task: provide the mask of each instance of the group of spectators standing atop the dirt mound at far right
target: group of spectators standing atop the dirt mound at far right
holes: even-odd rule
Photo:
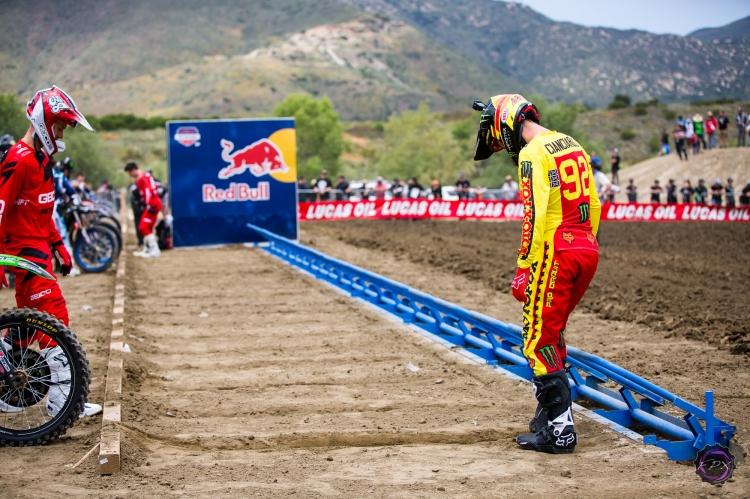
[[[734,125],[737,130],[737,147],[750,145],[750,121],[747,113],[742,107],[737,108],[737,114],[734,117]],[[706,149],[715,149],[717,147],[729,147],[730,120],[724,113],[719,111],[719,116],[714,116],[713,111],[706,113],[704,120],[700,113],[695,113],[692,118],[683,118],[682,115],[677,117],[672,130],[672,141],[674,150],[680,160],[688,160],[688,151],[692,150],[693,154],[698,154]],[[665,128],[661,129],[661,154],[667,155],[672,152],[669,147],[669,134]]]

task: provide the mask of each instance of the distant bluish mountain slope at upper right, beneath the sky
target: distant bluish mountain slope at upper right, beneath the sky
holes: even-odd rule
[[[407,22],[547,99],[602,107],[621,93],[634,101],[750,97],[749,38],[704,43],[589,28],[493,0],[338,1]]]

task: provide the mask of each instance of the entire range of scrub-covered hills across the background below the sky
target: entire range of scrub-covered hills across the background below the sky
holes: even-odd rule
[[[294,34],[359,19],[363,10],[381,20],[390,18],[393,28],[395,21],[405,23],[415,44],[399,41],[404,37],[394,43],[387,31],[379,31],[388,50],[375,45],[381,41],[378,36],[371,37],[367,58],[372,71],[362,71],[361,61],[349,65],[352,57],[341,69],[321,69],[320,58],[309,54],[307,59],[276,58],[273,63],[270,56],[260,58],[260,70],[252,74],[246,71],[248,64],[240,62],[254,50],[295,43],[290,40]],[[743,22],[718,29],[734,33],[744,29]],[[101,99],[97,109],[112,110],[145,108],[128,99],[162,95],[146,99],[156,104],[147,114],[159,109],[244,115],[269,109],[275,95],[307,89],[356,96],[358,109],[340,110],[345,116],[369,118],[413,107],[424,97],[433,100],[433,107],[451,109],[475,96],[518,88],[590,107],[603,107],[618,93],[634,101],[662,102],[750,97],[750,38],[704,42],[588,28],[493,0],[6,0],[0,28],[4,91],[27,98],[33,90],[56,83],[74,95],[85,89]],[[359,52],[354,55],[361,57]],[[378,69],[369,59],[388,69]],[[233,72],[230,62],[241,70]],[[205,81],[186,76],[187,69],[200,70]],[[389,72],[406,85],[387,75],[380,83],[371,81]],[[292,73],[309,77],[297,81]],[[238,78],[250,78],[247,84],[277,77],[276,93],[240,89],[238,84]],[[311,82],[313,77],[319,80]],[[346,90],[337,83],[342,81]],[[370,87],[372,92],[352,87]],[[239,106],[233,97],[238,89]],[[355,105],[351,100],[348,104]]]

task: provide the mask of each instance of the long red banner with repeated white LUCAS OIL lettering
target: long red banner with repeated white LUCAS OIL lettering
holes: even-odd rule
[[[391,199],[388,201],[327,201],[299,203],[299,219],[349,220],[352,218],[468,218],[473,220],[521,220],[520,201],[442,201],[439,199]],[[711,220],[750,222],[750,207],[726,208],[695,204],[619,204],[602,207],[602,220],[680,222]]]

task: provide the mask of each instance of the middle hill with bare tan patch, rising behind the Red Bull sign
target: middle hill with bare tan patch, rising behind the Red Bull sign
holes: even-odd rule
[[[495,85],[523,90],[410,26],[363,15],[247,54],[204,56],[75,95],[94,115],[257,116],[291,93],[306,92],[328,95],[343,119],[361,120],[385,119],[424,99],[433,109],[466,109]]]

